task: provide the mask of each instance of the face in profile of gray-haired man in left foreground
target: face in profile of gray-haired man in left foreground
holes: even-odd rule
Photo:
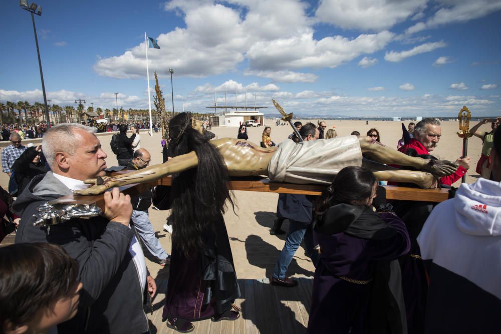
[[[68,155],[67,160],[70,165],[69,173],[77,180],[92,179],[96,176],[104,176],[107,158],[106,153],[101,148],[99,139],[87,131],[76,129],[75,135],[80,137],[74,155]]]

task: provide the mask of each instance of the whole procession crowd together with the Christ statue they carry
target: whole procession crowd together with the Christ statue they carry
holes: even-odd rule
[[[431,118],[403,127],[397,152],[381,145],[375,128],[367,136],[354,131],[338,137],[324,121],[294,123],[297,133],[278,145],[265,127],[261,149],[247,143],[245,125],[237,139],[214,144],[204,122],[179,113],[169,123],[164,163],[151,167],[141,125],[119,124],[110,145],[116,145],[118,165],[131,172],[111,178],[105,177],[107,154],[95,127],[59,124],[32,147],[22,145],[13,129],[2,167],[16,189],[0,191],[0,214],[17,233],[14,245],[0,248],[0,331],[44,333],[57,326],[59,333],[149,332],[144,306],[156,283],[141,244],[160,265],[170,265],[162,313],[167,327],[189,332],[201,319],[238,319],[241,310],[233,302],[240,289],[223,219],[225,203],[234,210],[227,182],[233,175],[261,174],[297,183],[318,178],[325,185],[317,197],[280,194],[270,231],[285,233],[281,226],[289,220],[271,284],[298,284],[287,270],[303,241],[316,267],[309,333],[498,332],[500,121],[473,127],[485,147],[477,165],[482,177],[438,205],[425,198],[389,202],[378,186],[389,180],[450,187],[470,168],[469,157],[444,162],[432,156],[441,126]],[[488,122],[491,132],[477,132]],[[319,147],[337,176],[322,165]],[[362,156],[388,166],[376,169]],[[284,172],[274,170],[282,164]],[[102,192],[125,184],[126,177],[148,181],[167,174],[173,174],[168,190],[157,187],[132,198],[118,188],[105,192],[102,216],[50,228],[33,224],[37,207],[47,201]],[[89,188],[86,180],[95,185]],[[152,204],[171,210],[170,255],[149,221]],[[0,224],[3,234],[6,226]]]

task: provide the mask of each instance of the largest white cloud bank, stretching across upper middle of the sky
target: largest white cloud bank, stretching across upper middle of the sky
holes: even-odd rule
[[[246,1],[212,4],[210,1],[171,1],[165,9],[176,11],[185,28],[160,34],[160,50],[149,49],[149,67],[160,78],[175,75],[205,77],[236,70],[248,60],[247,74],[276,82],[315,82],[304,68],[334,68],[361,55],[386,47],[395,34],[382,31],[355,38],[328,36],[314,39],[314,20],[308,5],[297,0]],[[283,13],[287,13],[284,20]],[[100,76],[139,79],[145,76],[146,54],[141,43],[122,55],[98,59]],[[273,78],[272,78],[273,77]]]

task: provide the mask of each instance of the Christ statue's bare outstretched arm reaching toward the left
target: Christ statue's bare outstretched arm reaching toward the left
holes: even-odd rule
[[[93,186],[85,190],[76,190],[75,195],[97,195],[115,186],[125,186],[132,183],[145,183],[158,180],[164,176],[179,173],[198,165],[198,158],[195,152],[183,154],[163,164],[153,165],[134,172],[112,177],[103,177],[101,180],[88,179],[85,183]]]

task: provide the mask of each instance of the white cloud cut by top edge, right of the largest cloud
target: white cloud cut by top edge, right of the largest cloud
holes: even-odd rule
[[[382,31],[417,14],[426,0],[322,0],[315,12],[320,22],[344,29]]]

